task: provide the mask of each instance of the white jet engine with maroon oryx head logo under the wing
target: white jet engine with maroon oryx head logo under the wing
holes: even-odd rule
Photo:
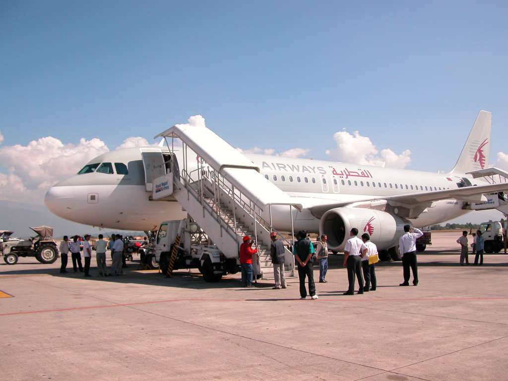
[[[330,209],[323,214],[319,231],[328,236],[330,250],[343,251],[352,228],[358,229],[359,238],[363,233],[368,233],[378,250],[386,250],[398,245],[400,236],[404,234],[404,225],[411,224],[394,214],[375,209],[343,207]]]

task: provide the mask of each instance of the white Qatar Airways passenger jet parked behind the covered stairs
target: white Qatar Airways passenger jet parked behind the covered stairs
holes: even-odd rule
[[[388,249],[397,244],[402,226],[407,223],[415,227],[438,224],[461,216],[478,204],[492,204],[508,213],[506,200],[501,200],[502,205],[497,200],[508,190],[508,174],[487,168],[490,131],[491,113],[480,111],[457,164],[448,173],[245,156],[295,204],[302,205],[301,211],[294,209],[296,231],[327,234],[330,249],[341,251],[348,238],[346,233],[356,227],[361,233],[368,232],[379,249]],[[196,153],[187,152],[186,156],[188,172],[197,169]],[[150,199],[153,165],[169,166],[174,160],[178,168],[183,158],[181,149],[171,153],[169,147],[127,148],[102,154],[76,175],[52,186],[45,197],[46,206],[54,214],[81,224],[154,230],[164,220],[185,218],[186,212],[174,199]],[[494,175],[499,175],[497,183],[493,183]],[[485,195],[490,195],[490,199]],[[291,231],[289,209],[273,208],[274,228]]]

